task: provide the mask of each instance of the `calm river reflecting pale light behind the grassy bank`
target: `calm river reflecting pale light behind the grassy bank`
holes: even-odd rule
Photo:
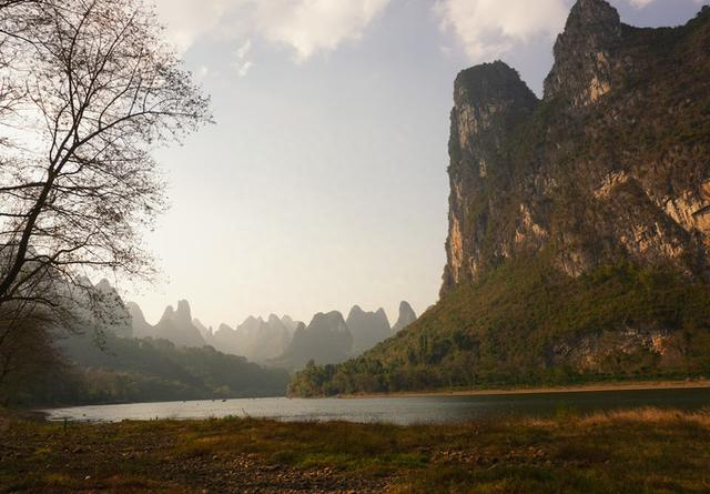
[[[50,420],[118,422],[153,419],[267,417],[281,421],[347,421],[394,424],[456,423],[505,415],[549,416],[657,406],[710,407],[710,390],[604,391],[499,396],[416,396],[298,400],[286,397],[134,403],[48,410]]]

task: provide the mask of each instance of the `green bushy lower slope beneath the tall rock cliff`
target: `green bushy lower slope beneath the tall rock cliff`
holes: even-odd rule
[[[523,256],[454,289],[365,355],[308,365],[301,396],[710,373],[710,288],[625,263],[574,279]]]

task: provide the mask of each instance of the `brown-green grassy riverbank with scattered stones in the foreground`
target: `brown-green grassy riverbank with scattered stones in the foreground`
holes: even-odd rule
[[[407,427],[0,419],[0,492],[707,493],[710,411]]]

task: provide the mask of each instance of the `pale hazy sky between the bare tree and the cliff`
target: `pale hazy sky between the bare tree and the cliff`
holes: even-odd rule
[[[613,0],[677,26],[700,0]],[[541,93],[572,0],[156,0],[216,123],[156,152],[171,209],[145,236],[162,274],[122,286],[156,322],[438,299],[456,73],[496,59]]]

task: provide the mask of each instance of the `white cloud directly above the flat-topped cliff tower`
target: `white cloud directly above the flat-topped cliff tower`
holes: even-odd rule
[[[565,0],[438,0],[442,29],[452,30],[473,61],[509,52],[536,36],[554,37],[565,26]]]

